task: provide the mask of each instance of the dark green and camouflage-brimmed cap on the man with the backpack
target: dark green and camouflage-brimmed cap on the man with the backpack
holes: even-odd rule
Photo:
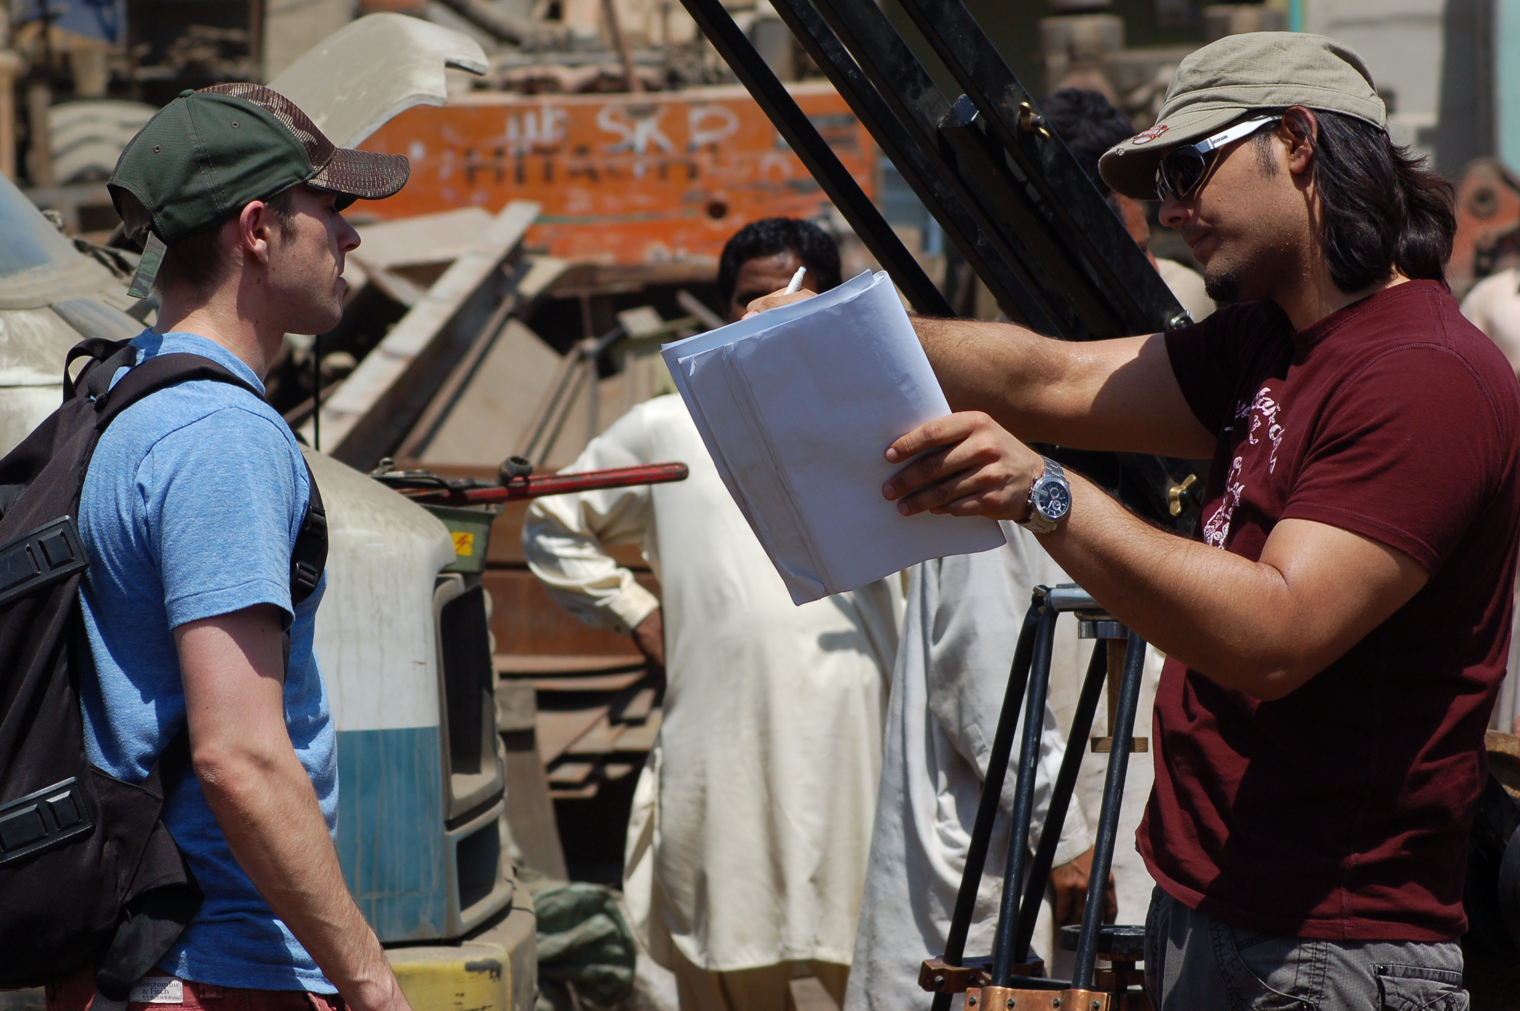
[[[249,201],[306,182],[337,193],[342,210],[391,196],[410,172],[406,155],[334,146],[278,91],[219,84],[181,91],[160,109],[128,141],[106,187],[128,237],[144,243],[132,293],[146,295],[163,246],[216,228]]]

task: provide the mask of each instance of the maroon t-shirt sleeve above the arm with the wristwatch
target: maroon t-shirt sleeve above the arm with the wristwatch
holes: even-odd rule
[[[1432,345],[1389,351],[1325,404],[1281,518],[1370,537],[1435,573],[1499,486],[1503,444],[1467,362]]]

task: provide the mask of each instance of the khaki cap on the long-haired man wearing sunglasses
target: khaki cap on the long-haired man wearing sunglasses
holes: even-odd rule
[[[1119,193],[1154,201],[1161,155],[1249,114],[1290,105],[1388,129],[1373,73],[1350,46],[1303,32],[1246,32],[1189,53],[1172,76],[1155,126],[1104,152],[1099,172]]]

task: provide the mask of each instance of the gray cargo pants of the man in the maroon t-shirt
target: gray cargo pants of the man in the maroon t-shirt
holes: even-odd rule
[[[1233,927],[1151,897],[1155,1011],[1467,1011],[1456,941],[1321,941]]]

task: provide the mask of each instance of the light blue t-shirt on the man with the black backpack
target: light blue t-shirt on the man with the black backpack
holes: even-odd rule
[[[263,389],[248,365],[205,338],[146,331],[132,344],[138,362],[188,351]],[[274,604],[290,623],[286,727],[334,830],[336,731],[312,654],[325,578],[299,608],[290,607],[290,550],[309,494],[290,427],[230,383],[163,389],[105,430],[79,506],[90,558],[81,599],[96,667],[79,687],[94,765],[141,781],[184,724],[173,628]],[[205,902],[160,968],[220,987],[336,991],[233,857],[193,772],[166,798],[164,824]]]

